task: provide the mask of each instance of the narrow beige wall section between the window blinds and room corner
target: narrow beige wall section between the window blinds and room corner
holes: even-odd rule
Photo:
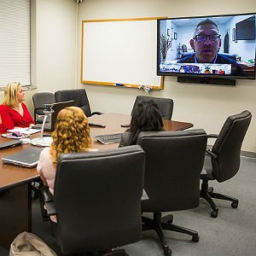
[[[75,87],[75,0],[32,0],[32,85],[39,91]]]

